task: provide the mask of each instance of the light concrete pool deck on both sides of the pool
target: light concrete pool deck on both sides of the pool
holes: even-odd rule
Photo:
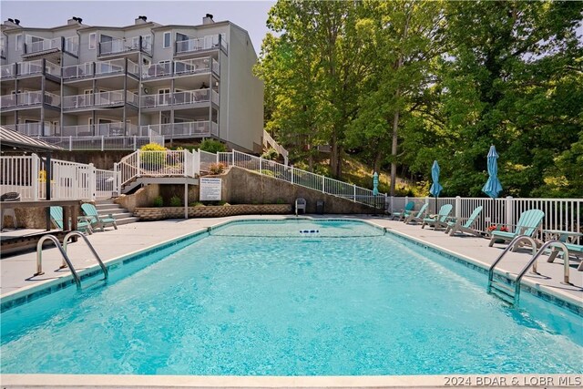
[[[325,215],[323,217],[308,215],[308,217],[314,219],[367,220],[387,230],[394,231],[396,234],[418,241],[424,246],[448,252],[484,268],[495,261],[499,253],[506,247],[506,245],[501,244],[488,247],[489,241],[484,238],[450,237],[445,235],[443,230],[421,229],[419,225],[408,225],[400,221],[389,220],[386,217],[367,215]],[[119,256],[140,251],[161,242],[169,241],[197,230],[204,230],[229,220],[258,218],[281,220],[285,216],[248,215],[213,219],[137,222],[119,226],[118,230],[109,228],[105,232],[96,232],[87,236],[87,238],[96,248],[102,260],[107,262]],[[77,271],[97,264],[97,261],[95,261],[82,241],[70,244],[67,251]],[[529,251],[508,252],[505,259],[500,262],[499,269],[502,272],[516,274],[526,264],[530,255]],[[583,271],[577,271],[578,262],[571,262],[570,284],[565,284],[563,283],[563,261],[557,259],[553,263],[548,263],[547,258],[547,256],[542,256],[538,260],[539,274],[527,272],[523,282],[535,289],[543,289],[551,294],[560,296],[568,302],[583,307]],[[33,276],[33,273],[36,272],[36,252],[34,251],[7,257],[0,261],[0,294],[3,300],[9,295],[20,295],[25,290],[33,288],[41,282],[49,282],[70,274],[66,269],[58,270],[61,257],[56,248],[46,248],[43,251],[42,259],[45,274],[36,277]]]

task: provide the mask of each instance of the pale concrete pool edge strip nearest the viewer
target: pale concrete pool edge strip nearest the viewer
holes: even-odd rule
[[[179,388],[444,388],[489,387],[580,387],[583,374],[450,374],[450,375],[327,375],[327,376],[237,376],[237,375],[107,375],[107,374],[2,374],[9,387],[179,387]]]

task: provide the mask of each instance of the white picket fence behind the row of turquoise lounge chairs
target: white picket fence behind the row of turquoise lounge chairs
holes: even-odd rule
[[[542,210],[545,218],[541,230],[565,230],[583,231],[583,199],[515,199],[506,197],[503,199],[489,198],[409,198],[389,197],[387,206],[389,211],[404,209],[404,205],[414,201],[415,210],[427,202],[429,213],[435,213],[444,204],[452,204],[452,216],[467,218],[476,207],[482,206],[483,210],[476,220],[476,230],[486,230],[487,227],[496,224],[504,225],[508,230],[513,230],[520,215],[525,210]],[[540,232],[539,232],[540,234]]]

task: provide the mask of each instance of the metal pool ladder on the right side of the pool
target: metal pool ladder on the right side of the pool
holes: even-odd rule
[[[528,260],[527,265],[518,273],[516,280],[514,281],[514,288],[511,284],[505,284],[500,281],[494,280],[494,268],[499,261],[506,255],[506,252],[515,249],[517,244],[527,241],[532,247],[532,257]],[[537,259],[540,257],[543,252],[547,249],[551,248],[558,248],[564,252],[564,282],[568,283],[568,276],[569,276],[569,267],[568,267],[568,249],[560,241],[547,241],[545,244],[542,245],[540,250],[537,251],[537,241],[534,239],[526,236],[526,235],[519,235],[515,239],[513,239],[506,249],[502,251],[502,253],[498,256],[496,261],[492,263],[490,269],[488,270],[488,287],[487,292],[494,294],[499,299],[509,303],[511,306],[518,306],[518,302],[520,301],[520,281],[522,277],[527,273],[528,268],[532,266],[532,272],[537,273]],[[514,251],[514,250],[513,250]]]

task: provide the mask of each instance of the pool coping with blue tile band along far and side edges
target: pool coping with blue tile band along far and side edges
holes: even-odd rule
[[[216,224],[213,224],[210,227],[201,228],[198,230],[194,230],[192,232],[182,234],[178,237],[172,238],[168,241],[162,241],[151,246],[145,247],[143,249],[139,249],[137,251],[130,251],[126,254],[120,255],[116,258],[112,258],[110,260],[104,261],[107,269],[116,269],[120,264],[128,263],[131,261],[136,261],[140,258],[147,256],[148,254],[155,253],[157,251],[165,250],[171,246],[178,245],[183,241],[188,241],[190,239],[197,238],[203,234],[210,234],[210,231],[220,229],[221,227],[228,225],[230,223],[237,223],[237,222],[246,222],[246,221],[281,221],[281,220],[326,220],[326,221],[357,221],[363,222],[375,229],[383,230],[384,233],[390,233],[394,236],[397,236],[404,241],[409,241],[419,247],[424,248],[425,250],[430,250],[437,252],[445,257],[449,258],[450,260],[457,261],[458,263],[462,263],[465,266],[468,266],[476,271],[486,272],[489,269],[489,264],[483,261],[476,260],[474,258],[468,257],[464,254],[460,254],[455,251],[450,251],[445,249],[441,246],[437,246],[433,243],[427,241],[421,241],[418,238],[414,238],[404,232],[394,230],[390,227],[384,227],[379,224],[376,224],[374,220],[362,220],[362,219],[355,219],[355,218],[313,218],[311,216],[302,216],[302,217],[292,217],[292,216],[284,216],[281,219],[269,219],[269,218],[261,218],[256,217],[252,219],[246,218],[237,218],[231,220],[220,220]],[[101,273],[101,269],[99,265],[96,263],[93,266],[90,266],[86,269],[77,271],[79,278],[81,280],[94,277]],[[502,281],[506,283],[510,283],[513,278],[511,277],[511,272],[509,271],[501,271],[499,269],[496,270],[497,278],[502,279]],[[57,292],[61,289],[69,287],[73,285],[75,282],[73,280],[73,276],[70,273],[65,273],[62,276],[59,276],[52,280],[46,280],[45,282],[39,282],[34,285],[29,285],[18,289],[16,291],[7,292],[0,296],[0,312],[5,312],[15,307],[21,306],[26,304],[27,302],[35,301],[36,299],[46,295],[51,294],[53,292]],[[578,316],[583,317],[583,301],[578,300],[576,297],[561,292],[559,290],[552,289],[546,285],[542,285],[537,282],[533,282],[529,279],[523,278],[521,281],[521,291],[528,292],[534,295],[541,300],[546,302],[553,303],[557,305],[559,308],[568,310],[569,312],[573,312]]]

